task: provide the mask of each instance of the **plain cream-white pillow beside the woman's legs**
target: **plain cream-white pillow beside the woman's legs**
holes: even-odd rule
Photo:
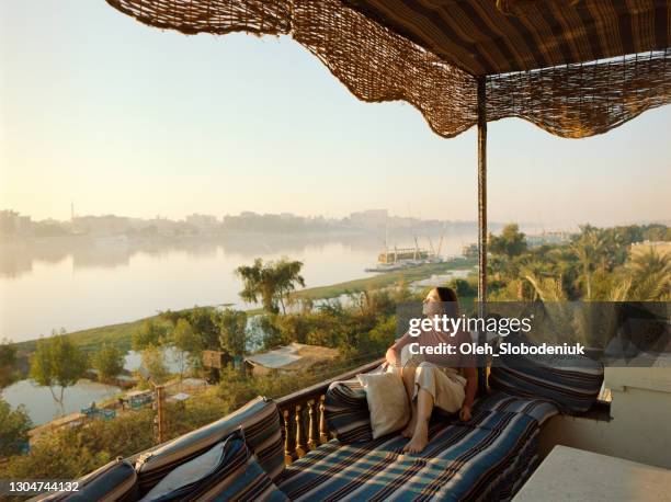
[[[402,429],[410,420],[403,380],[396,373],[356,375],[366,391],[373,438]]]

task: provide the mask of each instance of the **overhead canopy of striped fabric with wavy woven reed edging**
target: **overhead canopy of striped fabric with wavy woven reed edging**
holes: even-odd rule
[[[185,34],[291,35],[360,100],[402,100],[453,137],[520,117],[562,137],[671,102],[671,0],[106,0]],[[605,58],[605,59],[603,59]]]

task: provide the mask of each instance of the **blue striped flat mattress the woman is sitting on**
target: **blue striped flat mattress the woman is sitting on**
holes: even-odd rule
[[[541,424],[558,412],[544,400],[496,392],[468,423],[433,421],[420,455],[398,434],[333,440],[288,466],[277,481],[294,501],[510,500],[537,464]]]

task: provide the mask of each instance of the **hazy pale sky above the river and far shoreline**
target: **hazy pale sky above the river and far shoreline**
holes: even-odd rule
[[[476,218],[475,129],[442,139],[408,104],[359,102],[289,38],[187,37],[103,0],[0,15],[0,208]],[[490,123],[490,219],[671,218],[669,130],[669,106],[581,140]]]

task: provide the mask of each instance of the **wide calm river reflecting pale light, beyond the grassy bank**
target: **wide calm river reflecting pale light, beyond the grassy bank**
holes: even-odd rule
[[[439,236],[430,236],[437,247]],[[421,247],[429,236],[418,232]],[[445,236],[442,254],[458,254],[475,241],[465,231]],[[159,310],[239,304],[237,266],[255,258],[288,256],[305,263],[307,286],[365,277],[383,248],[383,236],[314,238],[246,237],[170,242],[52,240],[0,247],[0,339],[14,342],[132,321]],[[389,236],[412,247],[413,236]]]

